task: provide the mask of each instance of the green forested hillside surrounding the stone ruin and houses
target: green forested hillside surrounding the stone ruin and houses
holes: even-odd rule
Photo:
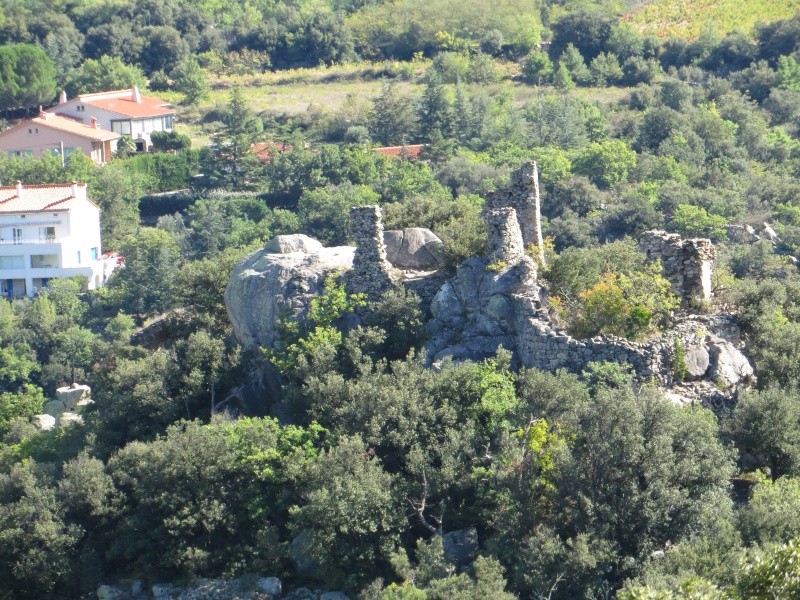
[[[104,167],[0,157],[4,184],[87,182],[125,257],[98,290],[0,301],[0,598],[251,574],[364,600],[800,597],[800,15],[760,4],[668,37],[661,2],[0,2],[9,122],[62,87],[147,86],[179,116]],[[624,363],[432,369],[429,303],[336,278],[278,343],[237,341],[229,276],[275,235],[352,244],[377,204],[453,276],[528,160],[549,318],[670,331],[636,242],[709,238],[713,301],[689,308],[731,315],[756,379],[712,405]],[[72,383],[83,422],[42,431]]]

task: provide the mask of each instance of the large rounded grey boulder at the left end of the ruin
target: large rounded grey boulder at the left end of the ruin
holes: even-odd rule
[[[302,317],[325,279],[353,264],[354,248],[323,248],[305,254],[259,250],[239,263],[225,289],[225,306],[236,338],[245,348],[271,346],[282,311]]]

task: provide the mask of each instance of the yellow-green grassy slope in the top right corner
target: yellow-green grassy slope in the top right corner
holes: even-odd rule
[[[759,21],[785,19],[800,11],[800,0],[653,0],[625,18],[644,33],[695,38],[705,27],[720,34],[751,32]]]

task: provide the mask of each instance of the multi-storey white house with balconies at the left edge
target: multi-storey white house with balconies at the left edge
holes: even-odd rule
[[[86,184],[0,187],[0,294],[33,296],[50,279],[82,275],[103,285],[117,265],[103,257],[100,208]]]

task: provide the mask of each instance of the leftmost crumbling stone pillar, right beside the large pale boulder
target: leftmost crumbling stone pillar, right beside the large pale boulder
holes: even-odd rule
[[[365,293],[370,298],[376,298],[392,287],[392,267],[386,260],[380,207],[352,207],[350,229],[356,242],[356,251],[353,269],[346,278],[347,290],[351,294]]]

